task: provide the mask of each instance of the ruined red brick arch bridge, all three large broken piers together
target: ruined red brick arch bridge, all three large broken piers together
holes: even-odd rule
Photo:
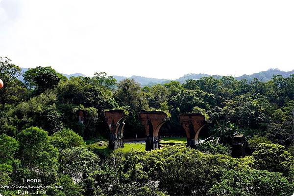
[[[127,118],[123,109],[105,111],[105,117],[110,129],[109,148],[123,147],[123,127]],[[146,151],[159,149],[158,133],[162,125],[169,121],[167,114],[163,111],[141,110],[140,119],[146,131]],[[186,132],[187,146],[190,147],[199,143],[199,132],[208,124],[205,117],[199,113],[182,113],[180,123]]]

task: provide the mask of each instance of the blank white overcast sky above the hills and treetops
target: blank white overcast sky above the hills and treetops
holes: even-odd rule
[[[0,0],[21,67],[175,79],[294,69],[293,0]]]

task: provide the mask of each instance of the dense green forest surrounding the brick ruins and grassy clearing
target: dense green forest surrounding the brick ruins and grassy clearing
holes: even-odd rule
[[[290,196],[294,193],[294,75],[236,80],[202,77],[141,87],[99,72],[70,77],[51,67],[21,68],[0,58],[0,194],[40,179],[48,196]],[[86,111],[79,123],[78,111]],[[162,110],[163,132],[182,135],[179,115],[203,114],[222,144],[168,146],[150,152],[97,153],[87,141],[107,140],[104,111],[124,109],[125,137],[145,137],[141,109]],[[162,132],[162,134],[163,134]],[[243,134],[247,155],[232,158]],[[60,188],[62,186],[62,188]]]

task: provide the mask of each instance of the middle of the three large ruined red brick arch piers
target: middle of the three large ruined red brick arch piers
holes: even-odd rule
[[[146,131],[145,150],[151,151],[159,149],[158,132],[161,126],[167,122],[168,115],[163,111],[147,111],[141,110],[140,119]]]

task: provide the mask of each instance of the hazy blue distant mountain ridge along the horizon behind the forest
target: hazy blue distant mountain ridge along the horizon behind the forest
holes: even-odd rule
[[[22,72],[24,73],[28,68],[22,68]],[[62,73],[63,74],[63,73]],[[290,77],[292,74],[294,74],[294,70],[292,71],[282,71],[280,69],[268,69],[266,71],[260,71],[258,73],[253,73],[251,75],[242,75],[242,76],[238,76],[238,77],[234,77],[236,80],[243,80],[246,79],[248,81],[252,81],[254,78],[257,78],[260,81],[263,82],[267,82],[269,81],[273,75],[282,75],[284,78]],[[86,76],[84,74],[81,73],[73,73],[73,74],[63,74],[64,76],[66,76],[67,78],[70,78],[71,76]],[[222,76],[221,75],[209,75],[209,74],[205,74],[205,73],[190,73],[190,74],[186,74],[178,79],[176,79],[175,81],[178,81],[180,83],[184,83],[186,80],[188,79],[193,79],[193,80],[198,80],[202,77],[213,77],[216,79],[220,79]],[[156,84],[164,84],[164,83],[168,83],[172,80],[169,79],[158,79],[158,78],[148,78],[148,77],[143,77],[143,76],[131,76],[131,77],[125,77],[125,76],[117,76],[114,75],[113,76],[117,82],[120,82],[126,78],[130,78],[130,79],[134,79],[136,82],[140,83],[140,85],[142,87],[144,86],[153,86]],[[23,81],[24,78],[23,76],[19,76],[18,77],[19,80]]]

